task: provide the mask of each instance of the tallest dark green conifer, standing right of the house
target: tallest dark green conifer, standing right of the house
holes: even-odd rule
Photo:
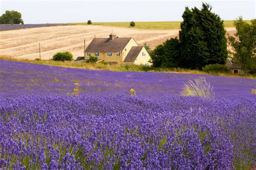
[[[201,10],[185,8],[180,24],[180,66],[201,69],[214,63],[225,64],[227,41],[223,20],[203,3]]]

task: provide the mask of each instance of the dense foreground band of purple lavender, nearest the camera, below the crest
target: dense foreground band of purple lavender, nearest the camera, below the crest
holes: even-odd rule
[[[255,164],[254,98],[0,99],[2,168],[234,168]]]

